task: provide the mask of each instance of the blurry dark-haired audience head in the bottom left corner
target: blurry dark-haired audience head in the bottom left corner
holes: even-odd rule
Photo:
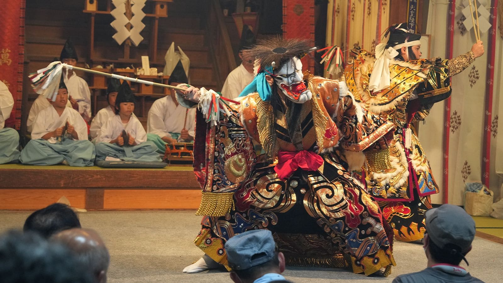
[[[68,249],[36,233],[10,231],[0,236],[0,281],[3,283],[91,283]]]

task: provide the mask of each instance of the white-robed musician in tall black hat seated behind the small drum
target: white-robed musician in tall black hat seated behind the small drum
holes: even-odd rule
[[[168,80],[171,86],[188,84],[181,61],[173,69]],[[147,118],[147,140],[157,146],[157,152],[164,154],[165,145],[190,143],[194,141],[194,121],[196,109],[187,109],[178,104],[175,90],[171,95],[159,98],[150,107]]]

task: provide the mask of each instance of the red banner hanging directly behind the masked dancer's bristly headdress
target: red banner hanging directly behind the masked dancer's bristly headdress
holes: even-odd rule
[[[314,47],[314,0],[283,0],[283,38],[310,39]],[[302,58],[302,65],[314,73],[313,57]]]

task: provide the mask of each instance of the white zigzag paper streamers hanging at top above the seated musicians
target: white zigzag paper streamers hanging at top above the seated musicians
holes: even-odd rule
[[[122,44],[124,40],[130,38],[135,46],[138,46],[143,40],[140,32],[145,28],[145,25],[141,22],[145,17],[142,9],[145,7],[146,0],[134,0],[127,2],[124,0],[112,0],[115,9],[110,12],[110,14],[115,18],[115,20],[110,23],[110,25],[117,31],[112,38],[117,41],[118,44]],[[131,12],[133,16],[131,20],[126,17],[126,5],[131,3]],[[126,28],[127,24],[131,24],[133,27],[131,30]]]

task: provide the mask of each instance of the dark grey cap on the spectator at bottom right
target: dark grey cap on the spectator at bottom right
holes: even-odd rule
[[[426,232],[439,248],[453,244],[461,248],[461,253],[470,250],[475,238],[475,221],[463,208],[442,204],[426,211],[425,219]]]

